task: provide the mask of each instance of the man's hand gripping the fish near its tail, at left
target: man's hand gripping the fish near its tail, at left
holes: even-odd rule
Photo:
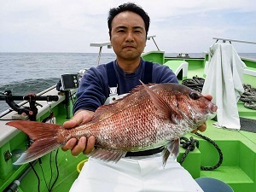
[[[73,119],[64,122],[63,126],[66,129],[71,129],[75,126],[85,124],[89,122],[93,117],[94,112],[88,110],[79,110],[73,116]],[[89,137],[88,140],[86,137],[81,137],[79,142],[76,138],[71,138],[69,141],[62,147],[63,151],[71,150],[73,156],[77,156],[80,153],[90,154],[95,145],[95,137]]]

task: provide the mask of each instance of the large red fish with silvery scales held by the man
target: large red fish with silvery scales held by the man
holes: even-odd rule
[[[140,85],[128,96],[96,110],[94,118],[73,129],[26,120],[7,125],[24,131],[34,143],[15,162],[24,164],[60,148],[70,138],[96,137],[91,157],[118,161],[128,151],[165,146],[163,164],[178,154],[179,137],[202,125],[217,107],[181,84]]]

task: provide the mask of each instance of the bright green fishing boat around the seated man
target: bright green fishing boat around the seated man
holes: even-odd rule
[[[149,36],[148,39],[154,41],[154,37]],[[255,44],[233,39],[213,39],[222,41],[221,44],[231,42]],[[209,51],[198,58],[188,54],[170,57],[161,51],[157,44],[155,45],[155,50],[143,53],[144,60],[171,67],[181,84],[200,86],[202,81],[207,79],[213,58]],[[90,44],[90,46],[100,49],[96,61],[98,65],[102,48],[110,47],[110,44]],[[245,64],[242,83],[247,84],[247,89],[256,88],[256,60],[243,57],[240,59]],[[84,154],[74,157],[69,151],[63,152],[57,149],[32,163],[16,166],[13,163],[28,148],[32,140],[25,133],[5,124],[15,119],[63,124],[72,118],[79,76],[84,72],[86,69],[82,69],[78,74],[63,76],[61,84],[66,84],[66,88],[62,90],[56,90],[56,86],[52,86],[37,95],[15,96],[15,93],[6,91],[0,96],[0,99],[8,102],[10,106],[0,114],[0,191],[66,192],[70,189],[87,157]],[[248,105],[250,108],[247,108],[245,103],[245,100],[235,103],[241,128],[216,127],[220,119],[218,117],[207,120],[207,131],[202,132],[201,135],[189,133],[181,138],[182,144],[177,161],[182,163],[192,177],[216,178],[229,184],[235,192],[256,191],[256,108],[253,108],[253,104]],[[256,101],[252,103],[255,107]]]

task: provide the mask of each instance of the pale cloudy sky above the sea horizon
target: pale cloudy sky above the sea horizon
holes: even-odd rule
[[[123,0],[0,0],[0,52],[96,53],[109,42],[108,11]],[[148,35],[166,53],[201,53],[212,38],[256,42],[255,0],[135,0],[150,16]],[[256,53],[256,44],[233,43]],[[145,50],[156,49],[148,41]],[[103,48],[102,52],[113,52]]]

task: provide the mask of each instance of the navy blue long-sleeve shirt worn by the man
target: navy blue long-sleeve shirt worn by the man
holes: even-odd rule
[[[77,101],[74,103],[73,113],[76,113],[79,109],[96,111],[96,108],[102,106],[106,101],[110,93],[106,65],[91,67],[84,74],[77,91]],[[145,61],[141,60],[134,73],[125,73],[116,61],[113,61],[113,68],[118,79],[119,94],[125,94],[141,84],[139,80],[143,79],[144,76]],[[154,63],[151,83],[178,83],[178,81],[169,67]]]

